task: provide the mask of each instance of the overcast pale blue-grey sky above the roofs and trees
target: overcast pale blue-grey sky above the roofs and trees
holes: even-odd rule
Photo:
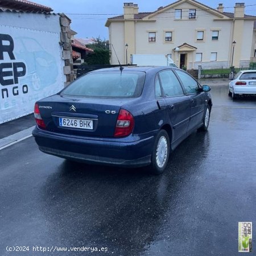
[[[71,28],[77,32],[76,38],[97,38],[108,39],[108,28],[105,27],[106,19],[122,15],[123,3],[138,3],[139,12],[155,11],[160,6],[170,5],[175,1],[170,0],[31,0],[32,2],[46,5],[53,9],[54,13],[65,13],[72,19]],[[236,2],[245,2],[246,14],[256,16],[256,1],[230,1],[230,0],[197,0],[213,9],[218,3],[223,3],[224,11],[233,13]],[[252,6],[250,6],[252,5]],[[80,15],[78,15],[80,14]]]

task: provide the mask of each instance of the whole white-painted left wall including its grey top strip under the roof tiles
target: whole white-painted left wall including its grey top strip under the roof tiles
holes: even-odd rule
[[[3,52],[0,59],[1,67],[11,64],[11,68],[1,69],[2,72],[11,72],[11,76],[4,76],[5,81],[0,80],[0,123],[32,113],[37,100],[64,88],[65,63],[59,44],[60,32],[59,15],[0,14],[0,34],[13,40],[15,57],[13,59],[9,53]],[[3,40],[3,45],[9,44]],[[26,72],[15,81],[13,67],[17,63],[23,63],[25,67],[18,71]]]

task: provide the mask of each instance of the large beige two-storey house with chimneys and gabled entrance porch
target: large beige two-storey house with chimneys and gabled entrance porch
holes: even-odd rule
[[[110,47],[121,63],[134,54],[171,57],[188,69],[249,67],[256,61],[256,16],[245,14],[245,3],[234,13],[214,10],[193,0],[179,0],[152,13],[139,13],[134,3],[123,4],[123,15],[109,18]],[[233,44],[236,42],[236,44]],[[111,63],[118,64],[111,50]],[[233,59],[233,61],[232,61]]]

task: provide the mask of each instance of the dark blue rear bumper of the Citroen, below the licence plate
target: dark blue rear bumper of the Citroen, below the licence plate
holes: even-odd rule
[[[151,163],[154,136],[132,142],[117,139],[74,138],[45,132],[37,127],[32,132],[39,149],[47,154],[79,162],[123,167],[146,166]]]

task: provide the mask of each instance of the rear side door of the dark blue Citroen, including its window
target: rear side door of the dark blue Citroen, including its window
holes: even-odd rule
[[[185,137],[187,134],[190,100],[188,96],[185,96],[179,80],[171,69],[159,72],[159,79],[173,127],[172,142],[175,142],[177,139]]]

